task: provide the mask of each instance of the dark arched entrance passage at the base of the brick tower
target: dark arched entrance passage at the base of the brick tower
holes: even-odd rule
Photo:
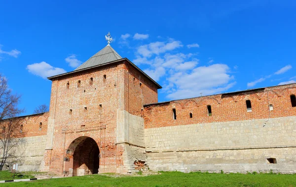
[[[88,136],[76,138],[66,152],[66,157],[69,158],[66,168],[69,169],[70,176],[98,173],[99,154],[99,147],[94,139]]]

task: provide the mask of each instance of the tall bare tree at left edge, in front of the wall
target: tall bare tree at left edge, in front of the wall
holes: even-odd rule
[[[0,170],[2,170],[10,152],[16,147],[21,137],[21,118],[23,109],[18,108],[20,95],[12,94],[7,86],[7,79],[0,74]]]

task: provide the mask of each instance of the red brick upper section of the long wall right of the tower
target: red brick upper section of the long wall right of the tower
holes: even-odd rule
[[[295,116],[296,107],[292,107],[291,94],[296,94],[296,84],[146,105],[145,128]],[[252,112],[247,112],[246,100],[251,100]],[[273,105],[270,114],[268,100]],[[212,116],[208,116],[207,105],[211,105]],[[176,109],[177,120],[173,119],[173,108]],[[190,112],[192,118],[189,118]]]

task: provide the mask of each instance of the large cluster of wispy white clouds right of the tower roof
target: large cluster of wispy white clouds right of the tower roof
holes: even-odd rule
[[[133,62],[148,66],[144,71],[154,80],[165,80],[160,92],[166,93],[169,99],[196,97],[199,93],[216,94],[236,84],[228,65],[198,66],[196,54],[174,51],[182,47],[181,41],[171,38],[141,45]]]

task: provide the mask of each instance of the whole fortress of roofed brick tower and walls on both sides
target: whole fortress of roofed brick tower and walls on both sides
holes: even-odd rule
[[[296,172],[296,84],[158,103],[161,87],[110,45],[49,79],[49,112],[21,117],[20,170]]]

